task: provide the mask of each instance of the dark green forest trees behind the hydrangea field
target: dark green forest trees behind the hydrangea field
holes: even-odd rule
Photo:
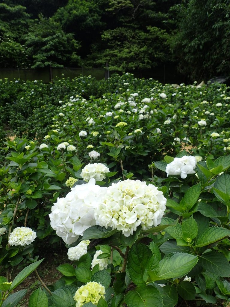
[[[4,0],[0,68],[229,76],[229,0]]]

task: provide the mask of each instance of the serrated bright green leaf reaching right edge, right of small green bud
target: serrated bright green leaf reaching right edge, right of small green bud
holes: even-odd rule
[[[230,235],[230,230],[228,229],[218,226],[209,227],[197,238],[196,245],[194,247],[209,245],[223,239],[228,235]]]

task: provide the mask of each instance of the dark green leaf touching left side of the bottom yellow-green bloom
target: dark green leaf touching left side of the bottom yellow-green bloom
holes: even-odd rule
[[[76,289],[72,286],[63,286],[52,292],[51,301],[56,307],[70,307],[75,306],[76,302],[73,296]]]

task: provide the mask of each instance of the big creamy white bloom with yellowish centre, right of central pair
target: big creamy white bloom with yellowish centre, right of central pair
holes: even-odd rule
[[[143,230],[158,225],[165,204],[166,198],[155,185],[127,179],[107,188],[102,202],[95,207],[95,220],[98,225],[117,229],[128,237],[139,225]]]

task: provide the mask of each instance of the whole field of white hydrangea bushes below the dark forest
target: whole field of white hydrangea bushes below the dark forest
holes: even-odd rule
[[[44,246],[69,260],[29,307],[227,306],[229,87],[0,83],[0,307],[20,306]]]

